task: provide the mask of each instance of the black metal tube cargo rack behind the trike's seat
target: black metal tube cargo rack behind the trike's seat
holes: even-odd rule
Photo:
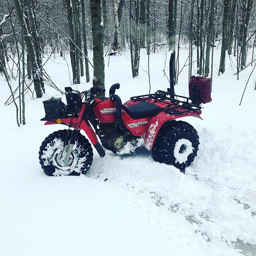
[[[180,100],[178,98],[180,98]],[[185,96],[172,94],[170,92],[164,92],[161,90],[158,90],[156,93],[153,93],[153,94],[144,94],[140,96],[134,96],[134,97],[131,97],[131,100],[132,101],[153,100],[152,103],[161,102],[163,104],[166,104],[166,106],[162,108],[161,112],[164,111],[170,115],[184,114],[188,112],[198,112],[202,108],[196,100],[193,100]]]

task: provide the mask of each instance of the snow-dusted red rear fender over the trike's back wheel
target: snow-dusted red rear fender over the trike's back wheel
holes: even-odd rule
[[[202,119],[200,117],[200,114],[201,114],[201,110],[198,112],[188,112],[180,115],[169,115],[166,112],[161,112],[157,116],[152,117],[149,120],[147,129],[146,129],[145,140],[144,140],[145,148],[147,150],[152,150],[154,142],[156,140],[156,136],[160,128],[165,122],[168,122],[170,120],[174,120],[177,118],[185,117],[185,116],[195,116]]]

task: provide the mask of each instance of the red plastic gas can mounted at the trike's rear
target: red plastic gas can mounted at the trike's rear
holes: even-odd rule
[[[212,101],[211,78],[196,76],[189,83],[189,97],[200,103],[206,104]]]

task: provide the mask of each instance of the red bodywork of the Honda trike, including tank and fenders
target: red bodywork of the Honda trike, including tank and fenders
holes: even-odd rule
[[[100,102],[99,98],[95,99],[94,104]],[[153,103],[154,100],[147,100],[150,103]],[[125,106],[132,106],[134,104],[138,104],[140,101],[132,101],[128,100],[124,103]],[[170,102],[168,102],[169,104]],[[164,108],[166,104],[162,102],[155,102],[154,104]],[[92,142],[93,145],[98,143],[98,139],[94,130],[86,123],[85,120],[82,119],[84,114],[84,110],[86,108],[86,104],[82,104],[82,108],[80,110],[80,114],[77,118],[62,118],[62,124],[71,124],[75,129],[82,129],[87,134],[88,138]],[[180,106],[180,110],[185,110]],[[111,99],[104,100],[98,103],[95,107],[93,107],[94,114],[98,118],[98,120],[102,123],[112,123],[116,122],[116,103]],[[157,116],[133,119],[129,114],[127,114],[124,110],[122,110],[122,120],[124,125],[128,128],[133,136],[144,136],[145,148],[147,150],[152,150],[154,142],[156,140],[156,136],[162,127],[162,125],[170,120],[174,120],[177,118],[182,118],[185,116],[196,116],[200,117],[201,110],[186,112],[183,114],[175,114],[170,115],[166,112],[160,112]],[[201,118],[202,119],[202,118]],[[47,121],[45,125],[48,124],[57,124],[56,120]]]

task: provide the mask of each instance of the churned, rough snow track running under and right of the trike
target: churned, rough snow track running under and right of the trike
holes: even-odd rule
[[[208,244],[243,250],[249,244],[247,255],[255,255],[256,136],[231,128],[220,133],[200,128],[198,133],[200,150],[185,175],[140,150],[135,156],[95,159],[90,177],[107,178],[122,193],[132,190],[137,198],[184,218]]]

